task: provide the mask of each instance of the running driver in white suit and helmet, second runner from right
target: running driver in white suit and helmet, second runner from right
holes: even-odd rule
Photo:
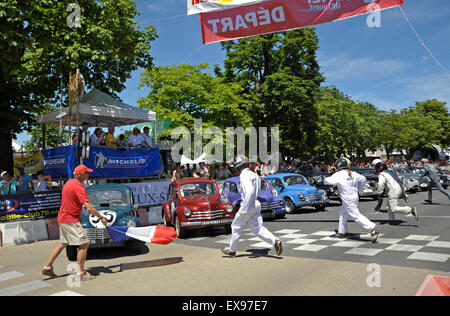
[[[378,174],[378,187],[376,193],[380,195],[384,193],[388,199],[389,223],[393,224],[395,222],[395,213],[404,215],[412,214],[416,220],[418,220],[419,213],[417,208],[398,205],[399,199],[408,198],[406,189],[400,179],[393,172],[389,171],[386,163],[380,159],[375,159],[372,162],[372,166],[374,166],[375,171]]]

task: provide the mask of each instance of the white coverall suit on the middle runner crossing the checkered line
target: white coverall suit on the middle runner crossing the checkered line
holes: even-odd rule
[[[366,183],[366,177],[352,172],[351,176],[347,170],[336,172],[331,177],[325,178],[325,184],[337,185],[342,201],[342,206],[339,208],[339,233],[346,234],[348,231],[347,217],[350,215],[355,222],[361,225],[364,229],[372,231],[375,228],[375,223],[372,223],[367,217],[362,215],[358,209],[359,195]]]

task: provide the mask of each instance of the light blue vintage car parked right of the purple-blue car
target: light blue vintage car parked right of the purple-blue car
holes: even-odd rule
[[[313,206],[322,211],[329,202],[326,191],[310,185],[300,174],[276,173],[263,179],[268,181],[277,191],[278,197],[284,200],[288,214],[304,206]]]

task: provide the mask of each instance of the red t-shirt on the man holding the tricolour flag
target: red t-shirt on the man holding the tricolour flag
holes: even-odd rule
[[[81,222],[83,203],[89,202],[86,188],[78,179],[71,179],[63,187],[58,223]]]

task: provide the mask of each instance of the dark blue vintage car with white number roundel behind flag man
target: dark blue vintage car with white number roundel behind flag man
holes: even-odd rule
[[[86,188],[89,201],[107,220],[108,226],[139,227],[142,225],[137,215],[137,204],[134,204],[133,193],[127,186],[121,184],[97,184]],[[90,248],[120,246],[130,247],[134,252],[141,253],[145,243],[136,239],[114,242],[108,230],[95,216],[83,208],[81,223],[90,242]],[[66,248],[67,257],[77,260],[76,247]]]

